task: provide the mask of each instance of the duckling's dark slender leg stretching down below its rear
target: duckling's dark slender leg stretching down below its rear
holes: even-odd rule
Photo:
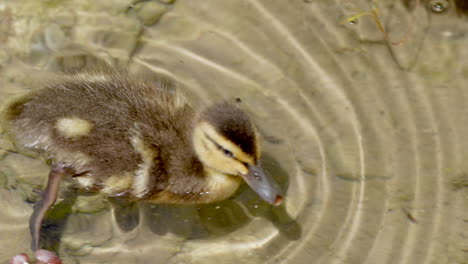
[[[70,168],[65,167],[63,164],[54,165],[49,173],[47,187],[42,192],[41,198],[34,204],[33,214],[29,218],[29,231],[32,237],[31,248],[34,252],[39,249],[41,225],[44,217],[57,200],[60,181],[63,177],[70,175],[73,175]]]

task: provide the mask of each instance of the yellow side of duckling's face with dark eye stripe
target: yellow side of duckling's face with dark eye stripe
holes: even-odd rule
[[[201,122],[195,127],[193,144],[200,160],[205,165],[225,174],[246,174],[248,168],[245,164],[255,163],[254,157],[220,135],[207,122]]]

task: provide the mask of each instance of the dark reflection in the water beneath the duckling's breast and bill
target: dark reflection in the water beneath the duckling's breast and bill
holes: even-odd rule
[[[281,189],[287,190],[288,175],[271,156],[264,155],[262,162]],[[149,229],[158,235],[168,233],[186,239],[218,237],[247,225],[255,217],[270,221],[288,240],[301,237],[301,227],[292,219],[284,205],[272,206],[259,199],[250,188],[244,186],[232,200],[206,205],[165,205],[113,203],[115,219],[123,231],[134,229],[141,217]],[[143,213],[143,216],[140,215]]]

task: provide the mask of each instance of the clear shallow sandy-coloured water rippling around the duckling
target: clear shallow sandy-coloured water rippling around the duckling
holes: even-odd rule
[[[240,98],[286,203],[248,188],[199,207],[78,196],[50,220],[66,263],[466,262],[468,22],[453,3],[436,14],[430,1],[377,1],[402,42],[387,45],[371,16],[347,22],[368,1],[178,1],[156,22],[158,4],[130,2],[6,1],[0,100],[96,63],[175,79],[197,102]],[[48,170],[0,155],[3,262],[29,251]]]

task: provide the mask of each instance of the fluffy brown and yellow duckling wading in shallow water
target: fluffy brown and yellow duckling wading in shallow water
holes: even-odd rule
[[[229,198],[242,180],[272,205],[283,200],[262,169],[257,129],[227,102],[195,110],[163,85],[96,71],[46,85],[5,114],[16,144],[51,164],[29,222],[34,252],[64,178],[130,201],[212,203]]]

